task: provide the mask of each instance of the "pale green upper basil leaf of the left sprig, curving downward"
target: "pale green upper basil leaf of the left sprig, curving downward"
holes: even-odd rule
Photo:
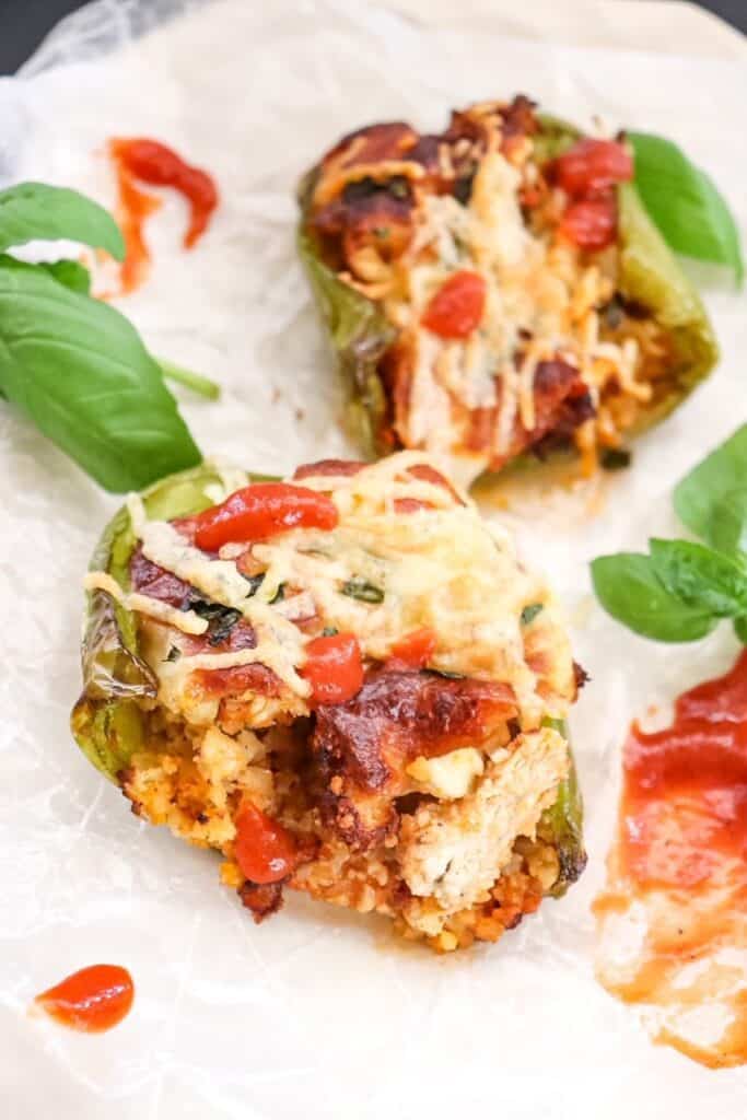
[[[124,260],[124,239],[112,215],[77,190],[46,183],[0,190],[0,252],[37,240],[80,241]]]

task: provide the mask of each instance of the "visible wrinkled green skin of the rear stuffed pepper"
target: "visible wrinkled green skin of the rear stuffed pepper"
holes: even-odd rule
[[[572,124],[548,113],[538,113],[538,120],[541,132],[534,137],[534,143],[542,162],[561,155],[581,136]],[[307,220],[320,169],[320,164],[312,167],[298,187],[298,253],[345,390],[345,429],[370,458],[377,458],[393,450],[381,436],[387,402],[379,362],[398,332],[374,300],[340,280],[318,254]],[[645,306],[671,333],[675,351],[675,388],[655,408],[643,412],[641,422],[628,432],[635,437],[664,420],[708,376],[718,362],[719,346],[700,296],[645,211],[635,180],[618,185],[617,196],[619,290],[627,299]],[[545,461],[557,461],[563,456],[568,457],[568,451],[553,450]],[[531,452],[524,452],[501,473],[530,466],[541,467],[542,463]]]

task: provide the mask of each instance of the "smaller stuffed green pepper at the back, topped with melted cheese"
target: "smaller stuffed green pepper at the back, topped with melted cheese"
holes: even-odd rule
[[[327,152],[299,250],[367,455],[422,448],[468,485],[567,448],[588,474],[709,373],[710,323],[634,170],[624,139],[524,96]]]

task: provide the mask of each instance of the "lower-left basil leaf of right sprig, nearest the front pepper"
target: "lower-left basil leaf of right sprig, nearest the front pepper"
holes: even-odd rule
[[[716,626],[709,612],[691,607],[662,586],[651,557],[618,552],[591,562],[597,598],[613,618],[659,642],[693,642]]]

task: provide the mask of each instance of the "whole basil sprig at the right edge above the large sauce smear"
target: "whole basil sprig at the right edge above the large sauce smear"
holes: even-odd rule
[[[706,543],[652,539],[648,554],[620,552],[591,564],[605,610],[637,634],[692,642],[721,618],[747,644],[747,424],[674,492],[682,522]]]

